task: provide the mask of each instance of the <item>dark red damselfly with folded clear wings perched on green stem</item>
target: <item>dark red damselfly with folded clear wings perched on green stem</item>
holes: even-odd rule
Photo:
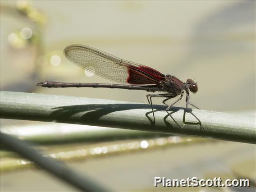
[[[166,93],[147,94],[147,101],[151,104],[154,123],[155,114],[152,105],[152,97],[164,97],[163,104],[167,105],[166,112],[169,114],[169,109],[183,98],[186,93],[186,109],[200,123],[201,121],[188,110],[188,105],[193,105],[189,102],[189,93],[196,93],[198,90],[197,82],[192,79],[187,79],[186,82],[180,81],[172,75],[164,75],[159,71],[148,66],[137,64],[128,60],[119,59],[113,55],[105,53],[101,50],[83,45],[70,45],[64,49],[64,55],[74,64],[82,69],[86,69],[98,76],[112,80],[114,82],[125,84],[107,84],[107,83],[68,83],[68,82],[39,82],[36,85],[41,87],[105,87],[119,89],[144,90],[148,92],[164,91]],[[166,101],[179,96],[171,105],[166,104]],[[197,107],[196,107],[197,108]],[[198,108],[197,108],[198,109]],[[169,116],[172,118],[171,114]],[[172,118],[173,119],[173,118]],[[173,119],[174,120],[174,119]],[[174,120],[175,121],[175,120]],[[176,121],[175,121],[176,123]],[[178,124],[178,123],[177,123]],[[178,125],[179,126],[179,125]],[[202,125],[201,125],[202,127]],[[179,128],[181,128],[179,126]]]

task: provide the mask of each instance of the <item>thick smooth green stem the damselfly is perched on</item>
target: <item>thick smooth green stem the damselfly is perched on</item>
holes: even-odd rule
[[[154,105],[154,124],[148,104],[22,92],[1,91],[0,94],[0,118],[4,119],[74,123],[256,143],[253,116],[193,109],[202,128],[184,108],[173,107],[169,113],[181,130],[163,105]]]

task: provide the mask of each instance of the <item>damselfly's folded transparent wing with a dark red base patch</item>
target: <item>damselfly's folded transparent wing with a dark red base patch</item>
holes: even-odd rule
[[[156,84],[165,77],[155,69],[119,59],[89,46],[67,46],[64,55],[82,69],[119,83]]]

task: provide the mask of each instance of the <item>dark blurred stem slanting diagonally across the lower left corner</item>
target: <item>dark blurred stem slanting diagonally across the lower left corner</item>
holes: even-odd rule
[[[10,136],[9,134],[0,133],[0,144],[1,146],[4,145],[7,147],[10,151],[14,151],[26,159],[36,163],[50,174],[65,181],[66,183],[71,184],[73,187],[76,187],[83,192],[109,191],[101,187],[99,183],[91,180],[89,176],[82,176],[77,172],[74,172],[72,169],[59,161],[42,155],[37,150],[32,148],[27,142]]]

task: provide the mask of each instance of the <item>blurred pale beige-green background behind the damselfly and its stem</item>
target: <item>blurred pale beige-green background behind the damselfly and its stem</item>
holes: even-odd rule
[[[83,44],[183,81],[195,79],[199,88],[191,101],[201,109],[255,116],[255,1],[3,0],[0,5],[1,91],[147,103],[145,91],[35,86],[45,80],[110,83],[64,57],[66,46]],[[116,191],[188,190],[155,188],[154,177],[256,182],[252,144],[8,119],[1,119],[1,131],[42,144],[38,148],[45,154]],[[1,191],[76,190],[8,151],[1,151],[0,181]]]

